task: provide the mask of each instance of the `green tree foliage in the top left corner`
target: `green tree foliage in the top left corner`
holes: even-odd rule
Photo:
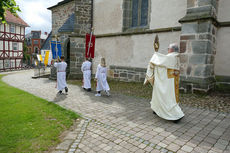
[[[17,12],[21,12],[15,0],[0,0],[0,23],[6,23],[6,10],[17,16]]]

